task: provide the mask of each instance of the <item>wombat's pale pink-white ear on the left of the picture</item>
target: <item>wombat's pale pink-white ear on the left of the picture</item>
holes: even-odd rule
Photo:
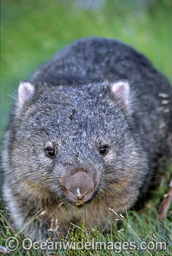
[[[18,88],[19,107],[22,108],[26,101],[30,100],[34,93],[34,85],[27,80],[21,80]]]

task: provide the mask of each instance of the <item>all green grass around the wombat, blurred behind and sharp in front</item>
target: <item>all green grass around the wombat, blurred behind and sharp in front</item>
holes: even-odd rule
[[[73,40],[89,35],[117,38],[137,48],[152,61],[155,67],[172,81],[172,2],[170,0],[106,0],[102,8],[88,8],[83,0],[8,0],[1,3],[1,125],[0,137],[7,125],[12,99],[22,79],[28,79],[34,68],[60,48]],[[96,0],[94,0],[96,2]],[[99,1],[103,3],[102,1]],[[78,4],[77,4],[78,3]],[[92,6],[93,7],[93,6]],[[101,232],[98,227],[89,230],[81,222],[60,241],[166,241],[164,251],[122,250],[120,254],[108,250],[72,250],[65,255],[172,255],[172,207],[164,226],[158,222],[157,207],[167,190],[172,174],[168,168],[165,179],[152,190],[151,199],[139,210],[129,210],[125,219],[116,216],[111,232]],[[110,225],[110,224],[109,224]],[[121,230],[121,231],[119,231]],[[13,223],[7,219],[6,209],[0,212],[0,245],[9,236],[17,236]],[[44,253],[45,254],[45,253]],[[40,255],[40,251],[19,249],[11,255]],[[64,255],[64,251],[47,252],[46,255]]]

